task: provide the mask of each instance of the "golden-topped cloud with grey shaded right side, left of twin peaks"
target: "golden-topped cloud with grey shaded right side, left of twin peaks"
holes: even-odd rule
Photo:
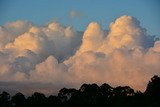
[[[81,42],[81,33],[72,27],[65,27],[57,22],[46,27],[32,26],[25,33],[18,35],[5,49],[16,50],[20,56],[24,50],[30,50],[41,58],[54,55],[59,61],[72,55]]]

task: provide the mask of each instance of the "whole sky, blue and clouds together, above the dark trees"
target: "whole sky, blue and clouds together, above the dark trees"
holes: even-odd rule
[[[145,91],[160,75],[158,0],[1,0],[0,92],[83,83]]]

